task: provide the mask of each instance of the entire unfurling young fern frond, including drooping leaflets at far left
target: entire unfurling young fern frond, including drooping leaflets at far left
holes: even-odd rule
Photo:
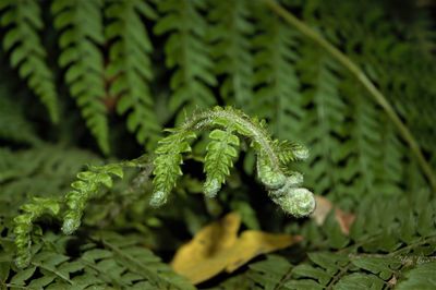
[[[272,141],[264,124],[234,109],[221,109],[219,107],[210,111],[195,114],[180,128],[169,130],[171,135],[159,142],[154,159],[154,193],[150,205],[161,206],[167,202],[167,196],[175,186],[178,176],[182,174],[182,153],[190,152],[186,142],[195,137],[194,130],[220,126],[226,131],[215,129],[210,133],[211,142],[207,145],[205,157],[206,182],[204,193],[208,197],[215,197],[221,183],[226,181],[232,166],[232,157],[237,150],[232,145],[239,145],[239,138],[232,134],[234,130],[242,136],[251,138],[251,144],[257,155],[258,179],[269,190],[271,200],[281,208],[293,216],[304,217],[315,208],[313,194],[303,188],[298,188],[303,177],[298,172],[289,171],[289,162],[307,157],[307,149],[301,145],[288,142]],[[66,209],[62,215],[62,231],[72,234],[81,225],[82,216],[89,200],[100,195],[102,185],[112,188],[112,177],[123,178],[125,167],[145,167],[145,157],[121,164],[105,166],[92,166],[88,170],[77,173],[77,180],[71,184],[73,189],[65,197],[63,204]],[[17,250],[16,265],[26,267],[31,262],[31,245],[33,223],[44,214],[52,216],[60,214],[60,202],[52,198],[34,197],[32,203],[21,206],[23,214],[15,217],[13,231]]]

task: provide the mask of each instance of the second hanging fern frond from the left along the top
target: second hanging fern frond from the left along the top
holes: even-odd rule
[[[98,146],[109,153],[109,125],[106,116],[102,56],[104,43],[100,0],[55,0],[51,11],[55,27],[61,33],[59,64],[66,69],[65,82],[76,99]]]

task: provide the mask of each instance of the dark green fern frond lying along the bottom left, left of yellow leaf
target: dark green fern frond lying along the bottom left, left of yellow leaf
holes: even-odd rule
[[[135,235],[97,232],[83,239],[69,255],[71,237],[47,233],[25,269],[10,267],[0,278],[2,288],[28,289],[194,289]],[[10,266],[2,262],[2,266]]]

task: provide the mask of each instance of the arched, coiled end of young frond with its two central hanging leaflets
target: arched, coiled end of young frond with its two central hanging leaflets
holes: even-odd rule
[[[298,188],[303,180],[300,173],[289,174],[283,167],[289,164],[290,154],[280,156],[277,152],[278,142],[271,140],[265,129],[265,122],[250,119],[243,112],[232,108],[216,107],[213,110],[194,114],[179,128],[170,131],[171,135],[160,142],[156,149],[155,158],[155,190],[152,196],[152,205],[158,206],[167,201],[167,197],[179,176],[182,174],[180,164],[182,153],[191,149],[189,138],[194,138],[194,131],[205,129],[213,130],[213,143],[207,146],[205,161],[206,182],[205,194],[215,196],[220,184],[223,183],[232,165],[232,158],[237,156],[235,146],[239,145],[237,134],[249,138],[257,155],[257,176],[269,191],[271,200],[281,208],[296,217],[307,216],[315,208],[313,194],[306,189]],[[234,132],[234,133],[233,133]],[[289,150],[288,146],[288,150]],[[306,152],[298,147],[292,156],[306,157]],[[302,154],[303,153],[303,154]],[[219,161],[218,161],[218,158]],[[213,168],[215,161],[215,168]],[[286,162],[283,162],[286,161]]]

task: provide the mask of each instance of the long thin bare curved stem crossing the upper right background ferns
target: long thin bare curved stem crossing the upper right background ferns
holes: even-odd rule
[[[395,123],[404,141],[409,144],[410,149],[416,157],[424,174],[427,177],[433,190],[436,191],[436,178],[432,167],[425,160],[425,157],[420,148],[420,145],[413,137],[408,126],[401,121],[400,117],[395,111],[393,107],[389,104],[383,93],[371,82],[365,73],[343,52],[337,49],[334,45],[327,41],[316,31],[312,29],[305,23],[296,19],[291,12],[287,11],[275,0],[264,0],[265,4],[281,16],[288,24],[296,28],[301,34],[313,40],[319,47],[330,53],[339,63],[341,63],[350,73],[363,85],[363,87],[370,93],[373,99],[385,110],[389,119]]]

